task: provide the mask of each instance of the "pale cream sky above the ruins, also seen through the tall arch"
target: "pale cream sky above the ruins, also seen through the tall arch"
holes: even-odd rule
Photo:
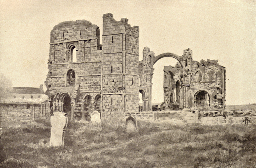
[[[100,27],[112,13],[140,27],[139,54],[193,50],[193,60],[218,59],[226,67],[226,104],[256,103],[256,3],[246,0],[1,0],[0,73],[13,87],[44,84],[50,31],[63,21],[85,19]],[[101,37],[100,37],[101,38]],[[102,43],[101,43],[102,44]],[[154,66],[153,103],[163,101],[163,66]]]

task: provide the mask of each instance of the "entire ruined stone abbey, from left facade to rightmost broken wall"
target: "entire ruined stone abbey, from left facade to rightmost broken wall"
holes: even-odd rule
[[[95,110],[100,117],[154,117],[146,112],[152,111],[154,64],[163,57],[178,62],[164,67],[162,107],[225,108],[226,70],[217,60],[194,61],[189,48],[182,56],[156,56],[145,47],[139,61],[139,27],[107,13],[102,44],[99,27],[86,20],[62,22],[51,31],[45,81],[48,111],[63,111],[70,119],[86,119]]]

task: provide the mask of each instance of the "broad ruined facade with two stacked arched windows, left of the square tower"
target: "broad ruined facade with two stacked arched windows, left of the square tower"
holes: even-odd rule
[[[86,20],[67,21],[51,31],[47,94],[53,99],[58,92],[70,93],[76,99],[75,117],[84,117],[81,111],[91,109],[84,106],[84,101],[100,94],[101,56],[97,25]],[[53,103],[53,108],[60,106],[60,102]]]

